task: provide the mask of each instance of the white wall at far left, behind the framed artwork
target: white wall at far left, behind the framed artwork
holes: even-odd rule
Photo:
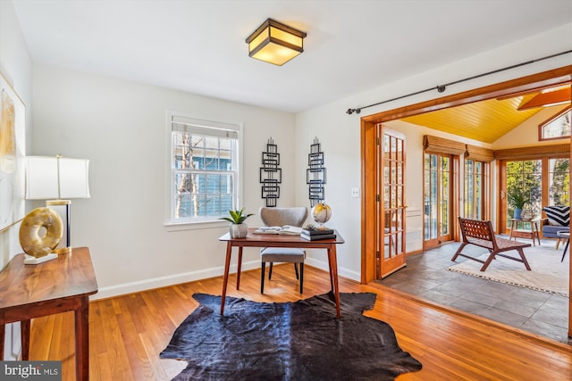
[[[32,62],[28,52],[28,46],[21,34],[20,23],[16,18],[12,2],[0,1],[0,72],[4,78],[12,85],[15,92],[20,96],[26,106],[26,136],[31,130],[32,114]],[[25,154],[26,145],[24,142],[22,154]],[[25,202],[22,188],[16,189],[18,198],[13,205],[15,216],[23,216],[25,213]],[[20,225],[15,225],[4,233],[0,233],[0,269],[10,261],[17,253],[21,253],[20,242],[18,240],[18,229]],[[20,326],[12,324],[6,327],[4,341],[4,360],[16,360],[20,353]]]

